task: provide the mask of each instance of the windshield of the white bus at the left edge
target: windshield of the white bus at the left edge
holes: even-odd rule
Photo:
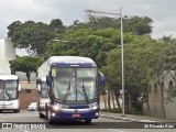
[[[0,100],[12,100],[18,98],[16,80],[0,80]]]

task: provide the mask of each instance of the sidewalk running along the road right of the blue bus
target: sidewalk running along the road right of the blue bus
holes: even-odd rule
[[[135,114],[125,114],[124,117],[122,117],[121,113],[102,112],[102,111],[100,111],[100,117],[114,120],[122,120],[122,121],[134,121],[134,122],[176,122],[176,119],[174,120],[160,119],[147,116],[135,116]]]

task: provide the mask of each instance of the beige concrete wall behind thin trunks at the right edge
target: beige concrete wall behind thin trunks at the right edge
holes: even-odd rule
[[[176,73],[172,72],[173,77],[176,78]],[[170,87],[170,81],[173,86],[176,86],[174,79],[168,73],[164,73],[164,78],[161,79],[161,82],[163,82],[163,99],[162,99],[162,90],[161,85],[156,80],[152,80],[150,82],[151,85],[151,92],[148,94],[148,103],[151,109],[151,116],[157,117],[157,118],[164,118],[164,112],[162,108],[162,101],[164,102],[164,110],[166,114],[166,119],[176,119],[176,98],[173,98],[173,102],[167,101],[167,90]],[[143,112],[145,114],[148,114],[147,106],[146,103],[143,105]]]

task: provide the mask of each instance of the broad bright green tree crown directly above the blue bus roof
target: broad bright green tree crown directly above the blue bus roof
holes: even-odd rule
[[[51,55],[79,55],[96,61],[98,67],[106,65],[107,53],[120,44],[120,31],[116,29],[67,29],[58,35],[59,42],[52,42],[47,47]],[[124,34],[124,43],[133,40],[130,33]]]

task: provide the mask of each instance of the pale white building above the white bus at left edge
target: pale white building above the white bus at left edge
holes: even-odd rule
[[[9,61],[15,58],[15,48],[9,38],[0,38],[0,74],[11,74]]]

